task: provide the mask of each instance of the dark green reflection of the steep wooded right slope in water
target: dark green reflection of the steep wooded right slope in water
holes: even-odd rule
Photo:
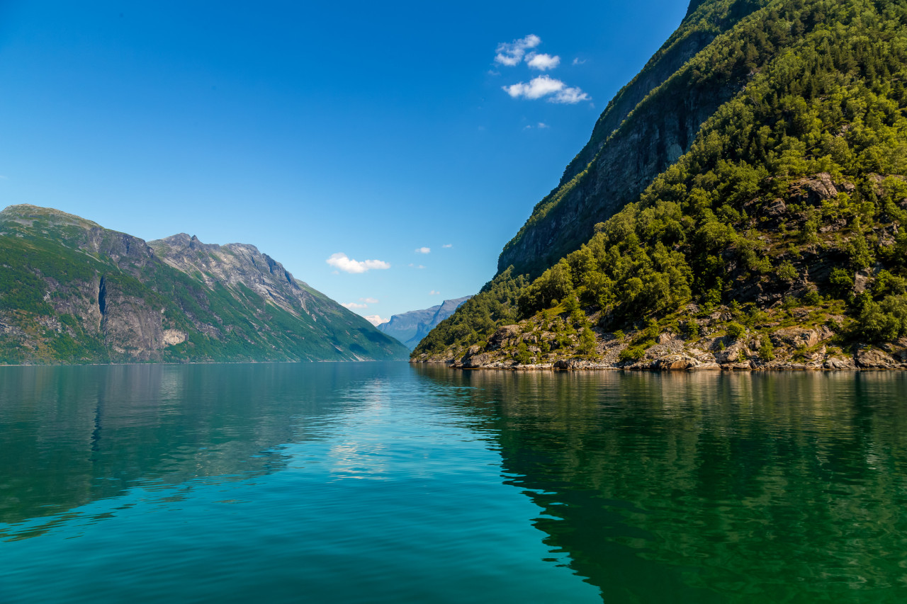
[[[418,371],[605,601],[907,597],[903,374]]]

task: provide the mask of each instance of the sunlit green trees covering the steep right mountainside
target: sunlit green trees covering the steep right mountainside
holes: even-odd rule
[[[481,341],[574,298],[610,329],[682,316],[690,302],[750,303],[762,318],[774,307],[788,313],[782,326],[802,325],[789,315],[795,307],[808,315],[838,300],[856,321],[847,336],[907,335],[907,2],[770,2],[649,100],[661,95],[662,111],[674,111],[670,90],[708,85],[716,73],[739,73],[746,85],[638,200],[538,278],[502,272],[470,300],[472,312],[458,311],[414,355]],[[866,291],[854,295],[858,271]],[[743,336],[741,323],[727,334]],[[697,335],[695,323],[683,325]],[[642,344],[623,355],[639,358]]]

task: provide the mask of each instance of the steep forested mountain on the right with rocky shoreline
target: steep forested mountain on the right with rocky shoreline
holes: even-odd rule
[[[692,3],[411,358],[907,367],[905,81],[904,0]]]

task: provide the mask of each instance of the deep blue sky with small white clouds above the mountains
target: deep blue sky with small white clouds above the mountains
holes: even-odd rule
[[[684,0],[0,0],[0,208],[251,243],[364,317],[476,293]]]

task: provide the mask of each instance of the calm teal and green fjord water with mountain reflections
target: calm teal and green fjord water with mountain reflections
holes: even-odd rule
[[[0,367],[0,602],[901,602],[907,376]]]

